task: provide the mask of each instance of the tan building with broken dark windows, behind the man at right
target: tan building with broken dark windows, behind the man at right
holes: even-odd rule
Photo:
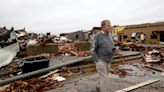
[[[164,42],[164,22],[127,25],[117,35],[119,42],[159,44]]]

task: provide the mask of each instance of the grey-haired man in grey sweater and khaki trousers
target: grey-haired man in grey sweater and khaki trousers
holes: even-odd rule
[[[101,30],[97,32],[92,40],[91,53],[96,63],[96,69],[100,76],[100,92],[110,92],[107,85],[109,67],[112,56],[115,52],[114,42],[112,39],[112,27],[109,20],[101,22]],[[118,51],[116,51],[118,53]]]

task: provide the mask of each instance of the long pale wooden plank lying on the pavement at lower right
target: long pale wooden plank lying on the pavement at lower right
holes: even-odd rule
[[[150,79],[148,81],[145,81],[145,82],[142,82],[142,83],[136,84],[134,86],[130,86],[130,87],[127,87],[127,88],[124,88],[124,89],[121,89],[121,90],[118,90],[118,91],[115,91],[115,92],[127,92],[127,91],[131,91],[131,90],[134,90],[134,89],[137,89],[137,88],[146,86],[148,84],[155,83],[157,81],[159,81],[159,79]]]

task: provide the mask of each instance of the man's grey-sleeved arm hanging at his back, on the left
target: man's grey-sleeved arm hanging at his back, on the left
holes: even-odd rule
[[[92,42],[91,42],[91,54],[93,56],[93,58],[95,59],[96,62],[99,61],[99,57],[97,56],[97,37],[94,36],[93,39],[92,39]]]

